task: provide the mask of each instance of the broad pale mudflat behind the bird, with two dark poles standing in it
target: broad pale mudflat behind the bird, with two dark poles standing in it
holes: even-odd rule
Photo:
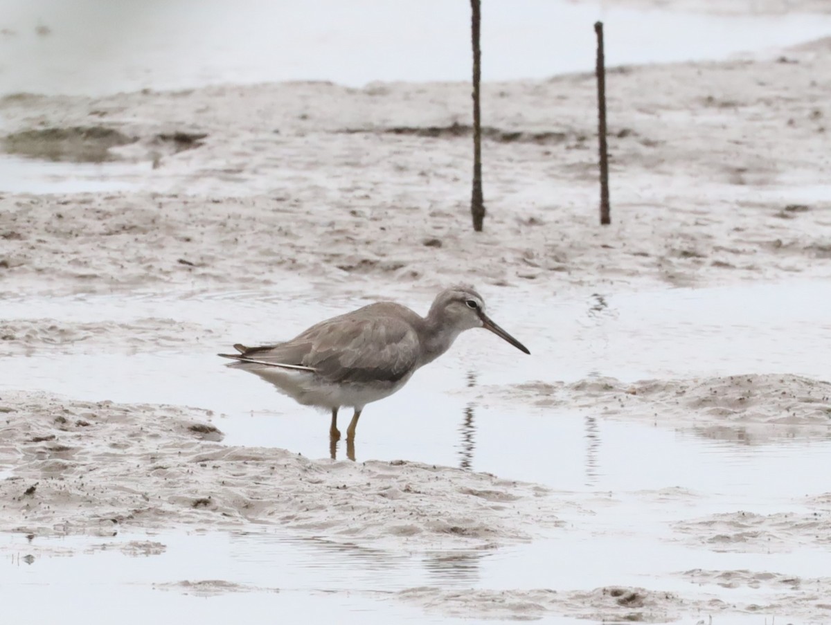
[[[150,190],[2,194],[0,288],[257,288],[299,274],[352,289],[460,278],[627,289],[828,275],[831,46],[783,58],[613,71],[604,229],[593,76],[485,87],[499,131],[485,145],[482,234],[469,225],[469,136],[454,130],[467,123],[461,84],[9,96],[7,132],[137,138],[110,154],[141,164],[125,182]],[[175,130],[207,137],[160,147]],[[57,149],[71,160],[79,148]]]

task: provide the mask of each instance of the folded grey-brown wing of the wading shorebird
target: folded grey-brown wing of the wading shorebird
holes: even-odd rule
[[[418,363],[418,334],[398,317],[347,314],[318,323],[279,345],[243,352],[262,364],[311,367],[327,381],[395,382]]]

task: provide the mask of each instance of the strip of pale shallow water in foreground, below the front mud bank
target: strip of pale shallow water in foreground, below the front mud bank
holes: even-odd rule
[[[148,618],[164,622],[173,610],[186,610],[200,623],[227,623],[229,617],[258,622],[274,611],[303,614],[312,623],[327,620],[332,613],[337,613],[338,623],[445,623],[451,619],[425,616],[397,600],[394,593],[419,586],[459,590],[649,586],[656,573],[666,592],[695,593],[695,584],[679,573],[692,568],[827,573],[823,559],[809,549],[788,554],[717,554],[666,544],[656,550],[654,537],[647,535],[654,529],[647,525],[626,540],[570,529],[556,539],[534,544],[420,554],[288,539],[273,530],[37,537],[32,541],[18,534],[5,537],[0,544],[6,561],[0,567],[0,583],[17,599],[5,606],[5,615],[13,623],[33,622],[32,617],[68,617],[75,622],[81,614],[91,618],[87,623],[104,623],[96,617],[107,613],[118,613],[121,623],[146,623]],[[131,540],[161,543],[164,552],[130,555]],[[126,554],[122,547],[127,548]],[[600,554],[602,567],[597,566]],[[192,590],[167,587],[203,580],[242,588],[204,598]],[[45,587],[50,601],[38,601]],[[764,594],[753,588],[734,593],[737,601],[761,600]],[[81,606],[91,604],[96,605],[95,612],[82,612]],[[574,621],[547,618],[546,622]]]

